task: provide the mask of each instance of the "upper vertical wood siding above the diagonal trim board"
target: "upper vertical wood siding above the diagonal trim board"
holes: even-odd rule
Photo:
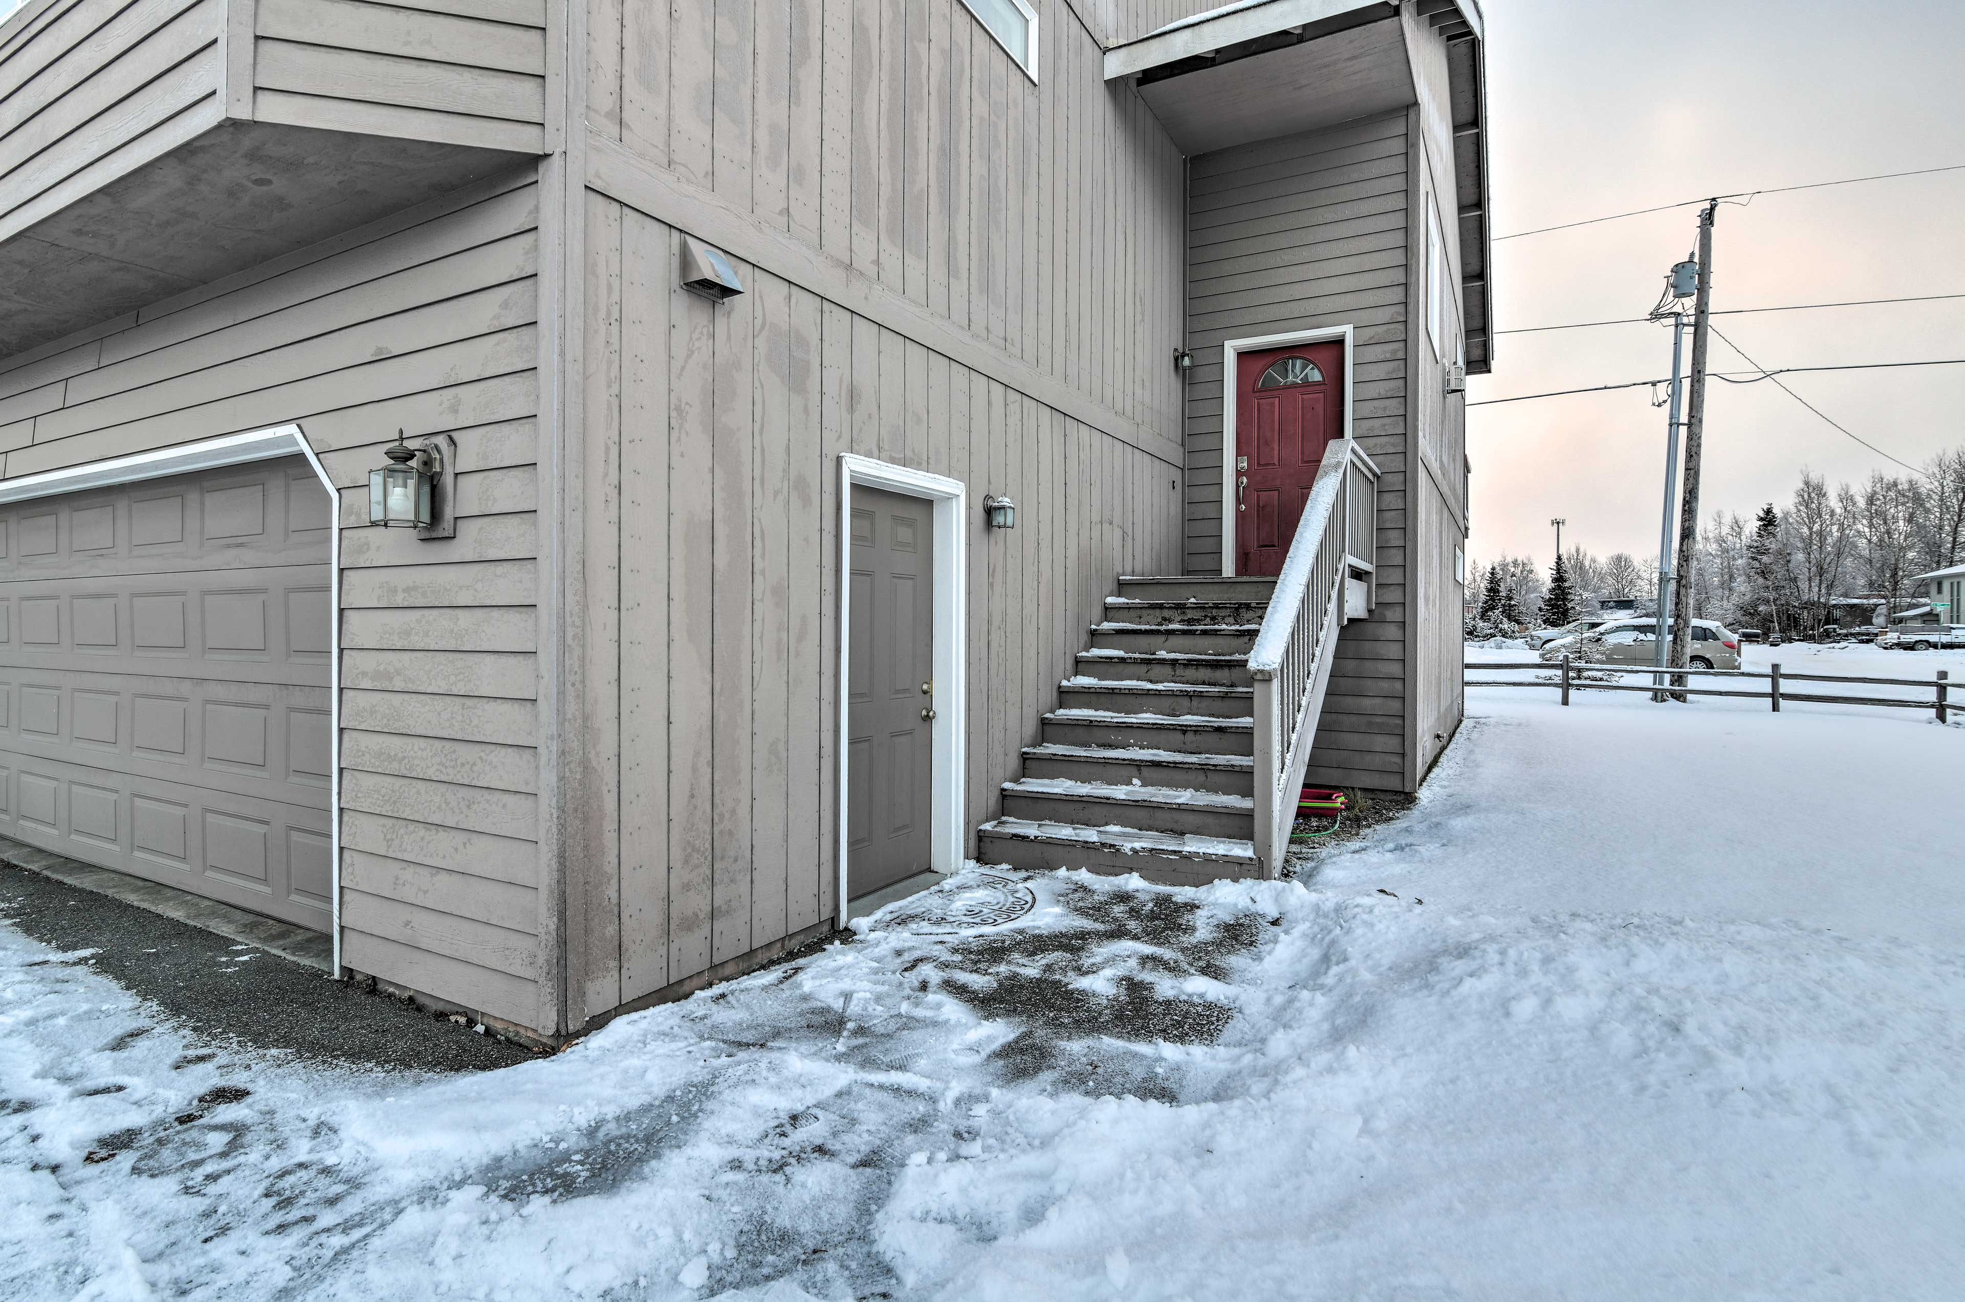
[[[1181,155],[1065,6],[1039,82],[961,0],[595,0],[590,124],[1173,436]]]

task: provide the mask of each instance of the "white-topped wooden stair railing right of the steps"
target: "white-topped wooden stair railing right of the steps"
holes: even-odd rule
[[[1338,628],[1377,603],[1377,465],[1356,440],[1324,450],[1275,595],[1248,654],[1256,679],[1256,860],[1283,870]]]

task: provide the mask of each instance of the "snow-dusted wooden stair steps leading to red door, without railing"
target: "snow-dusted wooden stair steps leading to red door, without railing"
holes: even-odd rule
[[[1248,652],[1273,579],[1122,577],[979,858],[1199,884],[1260,872]]]

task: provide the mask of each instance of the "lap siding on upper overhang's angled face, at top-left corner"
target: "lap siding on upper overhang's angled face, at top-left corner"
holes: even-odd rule
[[[220,118],[222,0],[65,0],[0,43],[0,240]]]

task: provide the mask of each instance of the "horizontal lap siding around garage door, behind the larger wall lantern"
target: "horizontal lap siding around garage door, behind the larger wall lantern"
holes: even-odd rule
[[[39,350],[0,369],[0,471],[303,426],[340,487],[344,962],[550,1027],[536,226],[538,189],[507,177]],[[397,428],[456,438],[454,540],[367,528]]]

